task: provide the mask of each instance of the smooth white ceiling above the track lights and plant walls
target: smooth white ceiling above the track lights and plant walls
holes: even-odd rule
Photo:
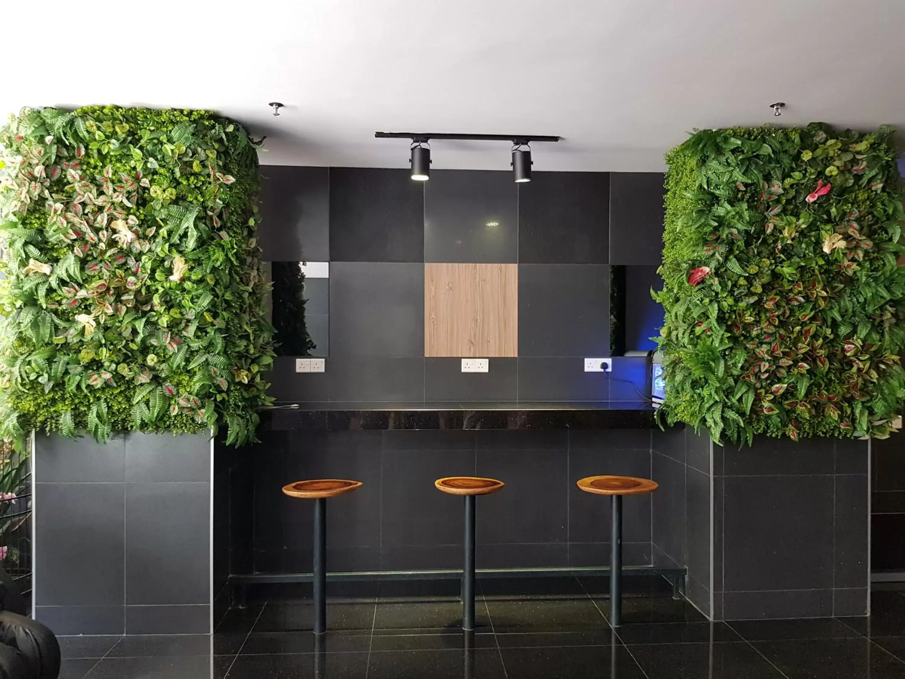
[[[70,5],[0,39],[0,113],[214,109],[267,135],[271,165],[406,167],[378,129],[562,136],[533,146],[538,170],[659,170],[695,128],[905,129],[902,0],[170,0],[71,21]],[[509,167],[506,142],[432,146],[434,168]]]

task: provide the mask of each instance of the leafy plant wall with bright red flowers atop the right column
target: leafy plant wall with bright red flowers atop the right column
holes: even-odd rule
[[[889,435],[905,405],[891,130],[702,130],[667,163],[667,421],[737,442]]]

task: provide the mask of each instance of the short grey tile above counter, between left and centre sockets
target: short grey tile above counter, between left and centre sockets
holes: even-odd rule
[[[422,401],[424,359],[329,359],[330,401]]]

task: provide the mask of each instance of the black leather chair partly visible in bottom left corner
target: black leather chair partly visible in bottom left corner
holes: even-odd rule
[[[0,679],[57,679],[56,636],[27,613],[22,593],[0,566]]]

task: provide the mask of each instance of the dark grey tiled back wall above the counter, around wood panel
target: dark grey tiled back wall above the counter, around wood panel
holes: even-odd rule
[[[307,259],[327,260],[329,244],[329,282],[306,282],[311,353],[329,356],[327,370],[299,375],[292,357],[281,357],[271,375],[279,400],[637,400],[644,392],[638,361],[605,376],[585,373],[581,359],[610,351],[614,201],[620,228],[633,240],[650,234],[659,252],[651,220],[661,175],[618,180],[612,195],[609,173],[536,172],[522,185],[510,172],[470,170],[436,170],[425,183],[397,169],[264,167],[262,176],[262,197],[274,204],[262,206],[265,256],[300,259],[300,244],[311,242]],[[645,202],[653,208],[641,209]],[[450,359],[424,359],[424,262],[519,263],[519,359],[491,359],[488,375],[464,376]]]

